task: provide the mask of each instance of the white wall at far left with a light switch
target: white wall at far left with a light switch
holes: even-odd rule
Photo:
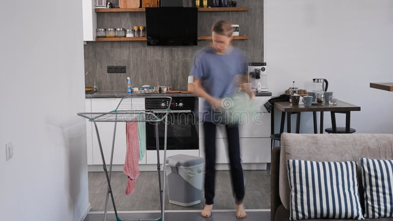
[[[1,220],[78,221],[89,207],[76,115],[85,109],[82,4],[9,3],[0,7]]]

